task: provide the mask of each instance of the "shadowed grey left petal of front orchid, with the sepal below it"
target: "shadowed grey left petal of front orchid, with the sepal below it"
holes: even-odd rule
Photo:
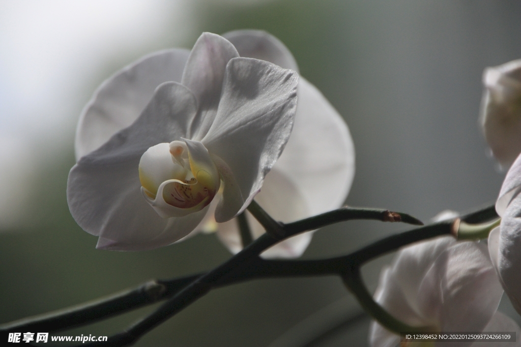
[[[140,158],[149,147],[185,136],[196,109],[196,100],[186,87],[164,83],[137,121],[83,156],[71,169],[67,202],[86,232],[131,249],[130,245],[141,247],[136,242],[145,245],[146,240],[173,232],[176,225],[181,227],[175,231],[176,237],[182,237],[199,223],[204,213],[181,222],[158,216],[141,195],[138,170]],[[164,241],[171,243],[176,237],[165,237]]]

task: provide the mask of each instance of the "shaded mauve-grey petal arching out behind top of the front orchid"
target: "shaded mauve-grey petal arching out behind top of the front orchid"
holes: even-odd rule
[[[266,60],[284,69],[299,72],[299,66],[288,47],[263,30],[235,30],[222,34],[244,58]]]

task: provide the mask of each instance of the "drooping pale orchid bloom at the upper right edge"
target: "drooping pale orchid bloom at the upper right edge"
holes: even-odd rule
[[[492,153],[504,167],[521,153],[521,59],[485,69],[480,124]]]

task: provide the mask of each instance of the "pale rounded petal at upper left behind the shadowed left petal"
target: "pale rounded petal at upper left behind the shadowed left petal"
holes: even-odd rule
[[[76,130],[76,160],[132,124],[158,85],[180,82],[189,54],[187,49],[162,50],[141,58],[103,82],[81,112]]]

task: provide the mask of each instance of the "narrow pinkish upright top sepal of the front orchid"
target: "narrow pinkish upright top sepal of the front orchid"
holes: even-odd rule
[[[188,134],[190,138],[200,140],[214,122],[226,66],[230,59],[237,57],[237,49],[222,36],[203,33],[195,42],[181,80],[199,102],[199,113]]]

